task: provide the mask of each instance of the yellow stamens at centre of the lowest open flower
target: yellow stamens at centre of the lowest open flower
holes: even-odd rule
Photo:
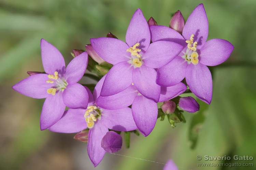
[[[92,112],[92,113],[91,113]],[[89,114],[91,113],[91,114]],[[94,122],[100,118],[101,110],[96,106],[88,106],[84,117],[89,129],[93,128]]]

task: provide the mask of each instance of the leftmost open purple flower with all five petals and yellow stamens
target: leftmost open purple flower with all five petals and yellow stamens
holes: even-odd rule
[[[65,69],[61,53],[44,39],[41,39],[41,52],[46,74],[31,75],[12,88],[32,98],[46,98],[40,117],[40,128],[45,130],[61,118],[66,106],[74,109],[87,107],[88,93],[77,82],[86,70],[88,53],[75,57]]]

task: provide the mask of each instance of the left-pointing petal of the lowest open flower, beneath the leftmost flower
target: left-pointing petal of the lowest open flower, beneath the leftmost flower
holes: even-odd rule
[[[59,133],[76,133],[87,128],[84,109],[68,109],[48,130]]]

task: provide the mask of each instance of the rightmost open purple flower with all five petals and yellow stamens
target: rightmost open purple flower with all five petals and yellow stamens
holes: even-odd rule
[[[173,86],[186,77],[189,89],[207,104],[212,100],[212,76],[207,66],[223,63],[234,46],[224,39],[208,37],[208,19],[203,4],[190,14],[182,35],[165,26],[150,26],[151,39],[173,41],[184,46],[182,52],[157,71],[157,84]]]

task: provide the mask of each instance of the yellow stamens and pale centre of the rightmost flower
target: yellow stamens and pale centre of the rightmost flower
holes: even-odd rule
[[[184,55],[181,57],[184,58],[188,64],[192,63],[192,64],[196,65],[199,62],[199,60],[198,60],[198,53],[196,52],[197,42],[196,41],[193,42],[194,36],[195,35],[192,34],[190,36],[190,39],[186,40],[187,50],[186,50],[186,52],[183,52]]]

